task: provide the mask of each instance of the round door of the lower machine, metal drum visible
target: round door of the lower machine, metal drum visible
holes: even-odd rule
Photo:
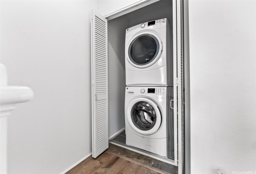
[[[127,118],[130,126],[143,135],[155,133],[161,124],[159,108],[148,98],[136,98],[129,103]]]

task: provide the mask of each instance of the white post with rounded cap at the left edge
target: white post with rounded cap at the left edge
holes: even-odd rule
[[[34,97],[32,89],[24,86],[8,86],[6,67],[1,64],[0,84],[0,173],[7,173],[7,118],[17,103],[27,102]]]

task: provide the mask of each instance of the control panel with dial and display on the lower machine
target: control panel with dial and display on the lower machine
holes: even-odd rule
[[[166,87],[138,87],[138,94],[149,96],[166,96]]]

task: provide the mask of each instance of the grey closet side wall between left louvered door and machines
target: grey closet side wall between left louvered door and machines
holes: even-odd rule
[[[129,20],[125,16],[108,21],[108,97],[109,137],[125,127],[125,32]]]

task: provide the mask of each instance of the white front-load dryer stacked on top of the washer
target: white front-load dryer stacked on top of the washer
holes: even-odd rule
[[[126,30],[127,86],[173,86],[173,34],[166,18]]]

